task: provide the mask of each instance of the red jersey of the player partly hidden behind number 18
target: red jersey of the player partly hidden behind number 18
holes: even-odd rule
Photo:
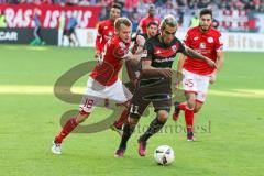
[[[96,48],[102,52],[105,44],[113,36],[114,24],[110,20],[101,21],[98,25]]]

